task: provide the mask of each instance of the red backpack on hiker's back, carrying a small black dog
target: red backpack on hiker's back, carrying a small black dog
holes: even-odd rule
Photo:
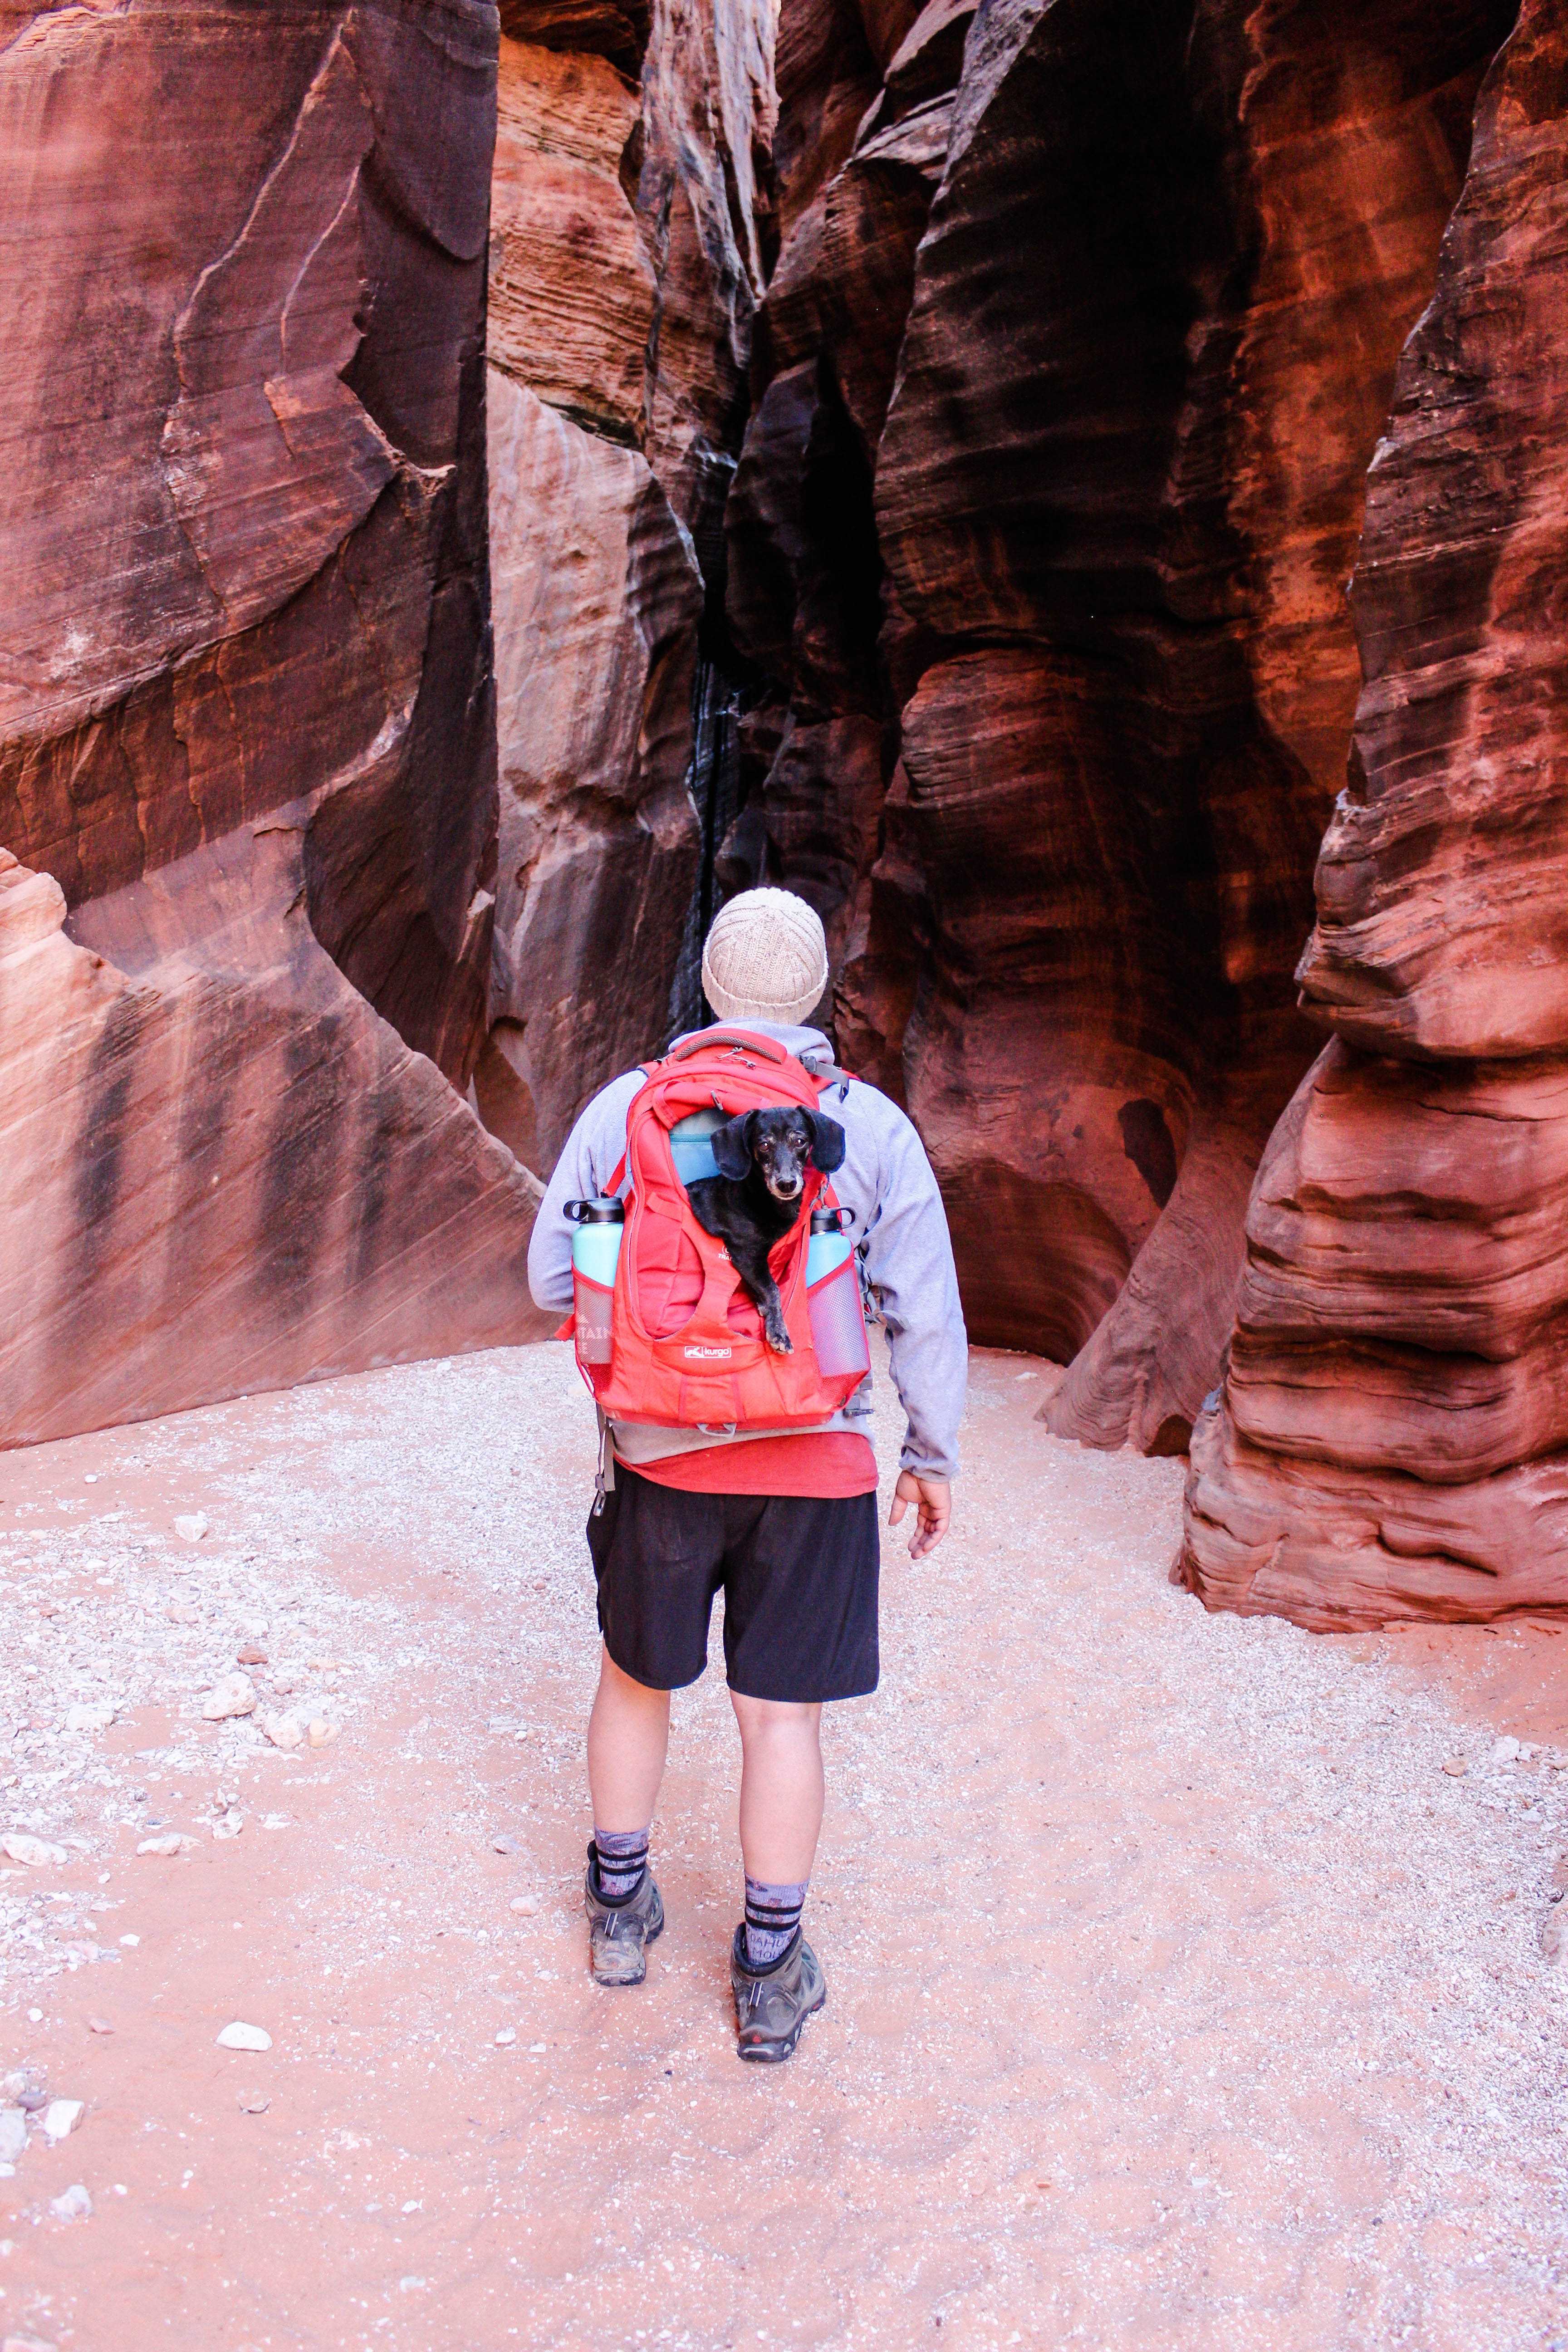
[[[806,1315],[811,1209],[837,1207],[818,1169],[806,1171],[799,1216],[769,1254],[792,1355],[776,1355],[762,1315],[724,1242],[698,1225],[675,1171],[670,1129],[696,1110],[769,1110],[799,1103],[816,1110],[827,1077],[813,1077],[773,1037],[712,1028],[646,1065],[625,1115],[625,1160],[609,1181],[630,1176],[625,1230],[611,1303],[609,1364],[578,1369],[611,1421],[658,1428],[790,1428],[827,1421],[860,1385],[860,1371],[823,1374]],[[830,1279],[856,1282],[853,1258]],[[856,1284],[856,1312],[858,1312]],[[576,1336],[576,1315],[562,1338]]]

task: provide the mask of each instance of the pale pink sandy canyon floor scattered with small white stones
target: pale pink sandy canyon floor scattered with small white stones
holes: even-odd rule
[[[564,1348],[0,1458],[0,1835],[63,1856],[0,1856],[0,2338],[1568,2345],[1568,1642],[1206,1616],[1180,1465],[1053,1442],[1048,1381],[976,1352],[957,1531],[886,1548],[776,2072],[712,1670],[649,1985],[585,1976]],[[202,1722],[244,1649],[256,1717]]]

